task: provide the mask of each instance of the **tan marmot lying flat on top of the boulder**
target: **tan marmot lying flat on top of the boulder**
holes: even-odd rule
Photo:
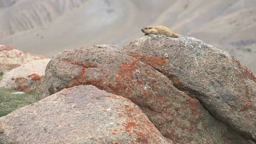
[[[141,29],[145,35],[148,34],[163,34],[168,37],[180,37],[179,34],[173,33],[168,27],[162,26],[162,25],[156,25],[156,26],[148,26]]]

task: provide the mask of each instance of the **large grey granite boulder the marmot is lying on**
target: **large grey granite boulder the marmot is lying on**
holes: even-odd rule
[[[256,141],[256,79],[230,53],[192,37],[141,36],[122,52],[167,76],[216,119]]]

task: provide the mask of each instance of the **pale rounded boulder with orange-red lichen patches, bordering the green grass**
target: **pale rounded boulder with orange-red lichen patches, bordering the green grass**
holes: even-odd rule
[[[21,65],[4,74],[0,88],[31,92],[39,87],[45,76],[45,68],[51,59],[40,59]]]

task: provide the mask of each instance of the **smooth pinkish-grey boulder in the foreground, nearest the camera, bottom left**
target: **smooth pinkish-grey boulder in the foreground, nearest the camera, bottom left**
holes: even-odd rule
[[[130,100],[90,85],[1,117],[0,143],[174,144]]]

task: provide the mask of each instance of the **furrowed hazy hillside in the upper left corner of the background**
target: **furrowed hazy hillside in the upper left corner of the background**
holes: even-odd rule
[[[85,0],[1,0],[0,38],[49,24]]]

